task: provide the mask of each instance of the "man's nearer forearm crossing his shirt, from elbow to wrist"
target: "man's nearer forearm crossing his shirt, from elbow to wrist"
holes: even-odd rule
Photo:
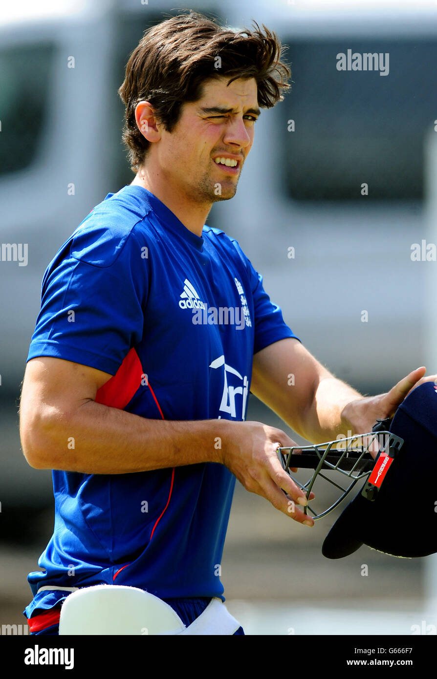
[[[148,420],[95,401],[66,416],[52,413],[35,430],[38,469],[123,474],[219,462],[228,420]]]

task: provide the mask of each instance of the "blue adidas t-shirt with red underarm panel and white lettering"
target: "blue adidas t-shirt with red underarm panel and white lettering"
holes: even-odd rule
[[[128,185],[48,265],[27,360],[54,356],[107,372],[96,401],[143,418],[242,421],[254,353],[295,336],[236,240],[207,226],[196,236],[150,191]],[[52,475],[54,533],[43,572],[28,576],[27,617],[69,593],[50,586],[222,597],[235,483],[226,466]]]

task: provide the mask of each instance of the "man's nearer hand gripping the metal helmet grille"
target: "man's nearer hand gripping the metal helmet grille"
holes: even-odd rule
[[[246,490],[266,498],[294,521],[314,526],[314,519],[298,509],[307,504],[307,496],[283,470],[276,452],[279,447],[295,445],[281,429],[262,422],[235,422],[220,461]]]

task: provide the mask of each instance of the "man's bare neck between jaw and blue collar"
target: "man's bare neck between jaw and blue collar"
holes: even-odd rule
[[[131,184],[150,191],[176,215],[188,231],[196,236],[202,235],[211,204],[194,201],[180,187],[170,186],[164,175],[151,172],[147,168],[140,168]]]

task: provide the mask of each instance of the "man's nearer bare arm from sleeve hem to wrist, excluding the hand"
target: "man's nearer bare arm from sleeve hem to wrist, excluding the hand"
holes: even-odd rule
[[[31,466],[120,474],[218,461],[211,425],[197,423],[195,432],[189,432],[190,422],[145,420],[96,403],[97,390],[111,377],[49,356],[29,361],[20,401],[20,437]],[[184,444],[188,439],[190,445]]]

